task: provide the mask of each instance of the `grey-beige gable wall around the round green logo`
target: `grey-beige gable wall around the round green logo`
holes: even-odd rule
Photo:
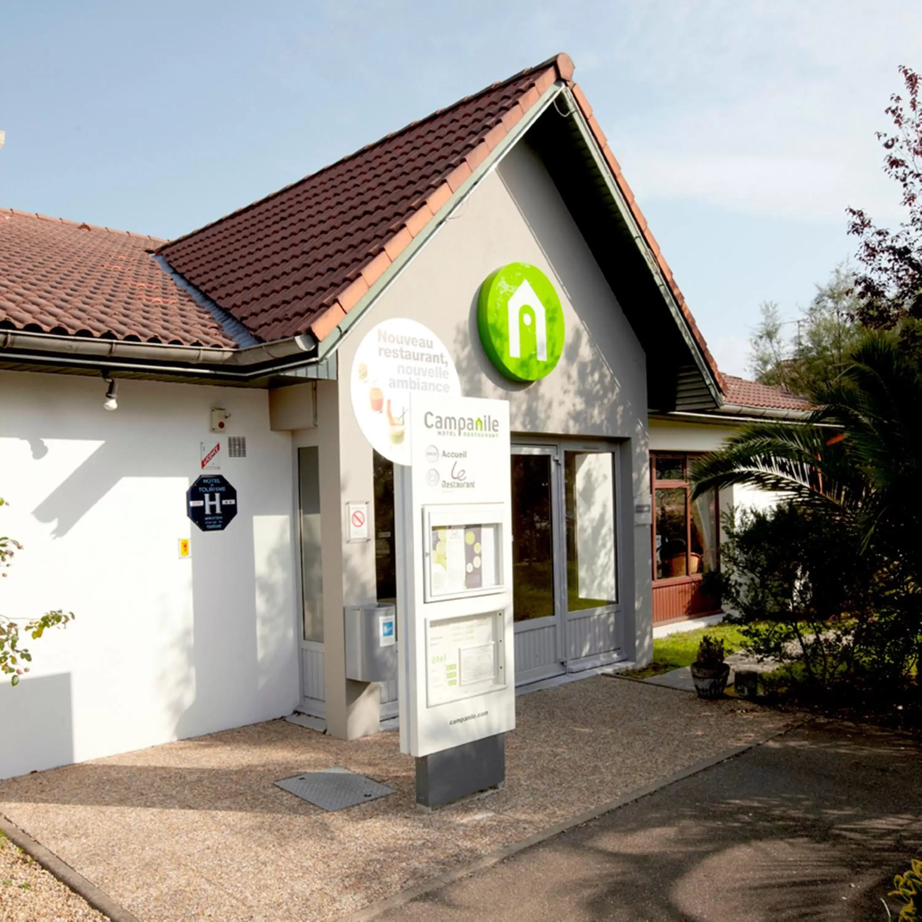
[[[561,295],[566,318],[560,363],[531,384],[502,377],[477,332],[479,286],[510,262],[542,269]],[[349,370],[361,338],[393,317],[418,320],[443,340],[466,396],[508,400],[513,431],[628,440],[620,448],[625,502],[648,491],[649,483],[644,351],[542,161],[520,142],[353,325],[338,347],[342,381],[318,385],[318,435],[326,446],[321,478],[327,721],[330,732],[348,739],[377,728],[376,694],[347,684],[342,660],[343,606],[375,600],[373,542],[343,540],[345,503],[373,497],[372,448],[352,412]],[[646,661],[652,653],[649,526],[633,526],[629,516],[621,535],[625,652]]]

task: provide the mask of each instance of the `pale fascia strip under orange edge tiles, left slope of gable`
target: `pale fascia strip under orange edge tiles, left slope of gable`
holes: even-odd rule
[[[374,282],[372,287],[365,292],[355,307],[331,330],[326,337],[320,342],[317,354],[324,357],[334,349],[337,349],[343,337],[349,332],[352,325],[358,323],[361,318],[371,310],[375,301],[384,294],[391,284],[393,284],[401,273],[407,268],[412,259],[420,253],[422,248],[431,240],[432,236],[438,231],[445,221],[454,217],[455,211],[478,187],[479,183],[496,167],[505,155],[513,148],[515,142],[523,136],[528,128],[535,124],[538,118],[547,111],[548,107],[564,91],[566,84],[562,80],[555,82],[549,89],[544,91],[538,102],[533,105],[525,115],[516,122],[512,130],[502,138],[499,144],[490,152],[490,156],[479,164],[478,168],[473,171],[467,181],[448,199],[447,202],[439,209],[431,221],[413,238],[406,250],[397,256],[396,260],[388,266],[384,275]]]

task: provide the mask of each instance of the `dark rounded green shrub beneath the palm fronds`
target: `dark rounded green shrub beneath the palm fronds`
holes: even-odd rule
[[[760,659],[860,697],[903,691],[922,643],[920,597],[857,529],[787,502],[725,516],[723,596]]]

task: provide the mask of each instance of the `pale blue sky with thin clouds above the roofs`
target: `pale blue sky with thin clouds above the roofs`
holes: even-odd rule
[[[173,237],[559,51],[704,336],[746,373],[898,219],[875,130],[922,70],[917,0],[0,6],[0,206]]]

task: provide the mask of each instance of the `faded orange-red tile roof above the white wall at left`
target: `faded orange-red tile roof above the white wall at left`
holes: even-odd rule
[[[0,209],[0,328],[233,347],[150,255],[160,243]]]

